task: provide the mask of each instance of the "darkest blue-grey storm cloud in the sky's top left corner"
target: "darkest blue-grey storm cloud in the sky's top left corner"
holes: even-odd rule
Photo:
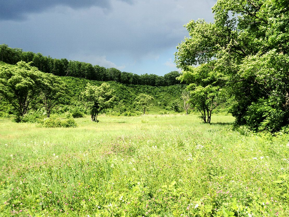
[[[131,3],[131,2],[128,2]],[[110,9],[110,1],[93,0],[1,0],[1,20],[23,20],[29,13],[40,13],[57,5],[68,6],[73,9],[90,8],[97,6],[103,9]]]

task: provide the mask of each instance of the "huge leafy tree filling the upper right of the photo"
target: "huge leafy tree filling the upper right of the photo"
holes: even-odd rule
[[[190,37],[177,47],[177,67],[187,70],[214,61],[213,70],[225,76],[234,98],[236,123],[279,130],[289,117],[288,0],[218,0],[213,12],[214,23],[192,20],[186,25]],[[274,76],[265,73],[270,71]],[[284,79],[271,82],[271,77]],[[276,95],[278,102],[273,100]],[[252,117],[253,111],[259,118]]]

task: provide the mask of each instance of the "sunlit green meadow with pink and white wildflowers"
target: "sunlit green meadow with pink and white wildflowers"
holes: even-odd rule
[[[0,119],[0,216],[289,216],[288,135],[225,115],[75,120]]]

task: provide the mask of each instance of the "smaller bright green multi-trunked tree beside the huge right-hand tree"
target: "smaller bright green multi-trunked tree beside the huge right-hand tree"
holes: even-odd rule
[[[214,73],[211,67],[212,64],[203,64],[199,67],[189,66],[188,70],[178,78],[181,82],[185,81],[189,84],[186,88],[190,91],[189,94],[183,92],[182,95],[184,108],[191,103],[201,113],[200,117],[204,123],[211,122],[212,111],[225,101],[221,87],[222,77]],[[189,102],[188,98],[190,98]]]

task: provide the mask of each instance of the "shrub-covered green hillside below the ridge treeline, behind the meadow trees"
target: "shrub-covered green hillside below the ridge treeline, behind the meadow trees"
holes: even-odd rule
[[[3,70],[5,68],[14,67],[14,65],[0,62],[0,67]],[[57,110],[58,113],[66,112],[74,107],[78,107],[84,112],[84,108],[81,103],[81,92],[84,91],[86,84],[89,82],[92,85],[99,86],[103,83],[101,81],[69,76],[60,76],[59,78],[67,85],[71,95],[69,98],[63,101],[62,105],[55,108],[55,111]],[[138,109],[134,105],[134,99],[140,93],[151,95],[154,98],[154,106],[148,111],[149,113],[182,111],[180,108],[177,108],[176,104],[181,104],[180,95],[182,90],[184,90],[186,87],[185,84],[153,87],[149,85],[121,84],[114,81],[108,81],[107,83],[112,86],[117,97],[117,103],[112,111],[110,111],[111,114],[135,115],[138,113]],[[3,100],[3,98],[0,98],[0,101],[2,105],[0,107],[0,113],[2,116],[5,116],[7,115],[6,111],[9,110],[9,105]]]

